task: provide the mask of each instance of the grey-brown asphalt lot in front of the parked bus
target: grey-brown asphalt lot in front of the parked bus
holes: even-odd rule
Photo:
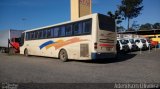
[[[160,49],[105,61],[69,61],[0,53],[0,82],[160,83]]]

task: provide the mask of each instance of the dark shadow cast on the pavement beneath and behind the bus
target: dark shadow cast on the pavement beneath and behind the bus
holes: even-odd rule
[[[84,62],[84,63],[95,63],[95,64],[108,64],[108,63],[117,63],[117,62],[123,62],[126,60],[130,60],[131,58],[134,58],[137,54],[124,54],[119,53],[117,54],[116,58],[109,58],[109,59],[97,59],[97,60],[86,60],[86,61],[78,61],[78,62]],[[71,60],[74,61],[74,60]]]

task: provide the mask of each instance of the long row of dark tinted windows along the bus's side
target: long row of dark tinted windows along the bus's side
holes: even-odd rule
[[[89,35],[91,34],[91,29],[92,19],[88,19],[51,28],[26,32],[26,40]]]

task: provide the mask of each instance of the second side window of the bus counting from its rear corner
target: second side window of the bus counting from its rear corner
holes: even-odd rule
[[[83,27],[82,22],[73,24],[74,35],[79,35],[82,33]]]

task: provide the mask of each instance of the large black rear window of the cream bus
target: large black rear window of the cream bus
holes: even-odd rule
[[[114,21],[114,19],[112,19],[108,16],[105,16],[105,15],[102,15],[102,14],[98,15],[98,19],[99,19],[99,28],[101,30],[107,30],[107,31],[115,32],[115,21]]]

